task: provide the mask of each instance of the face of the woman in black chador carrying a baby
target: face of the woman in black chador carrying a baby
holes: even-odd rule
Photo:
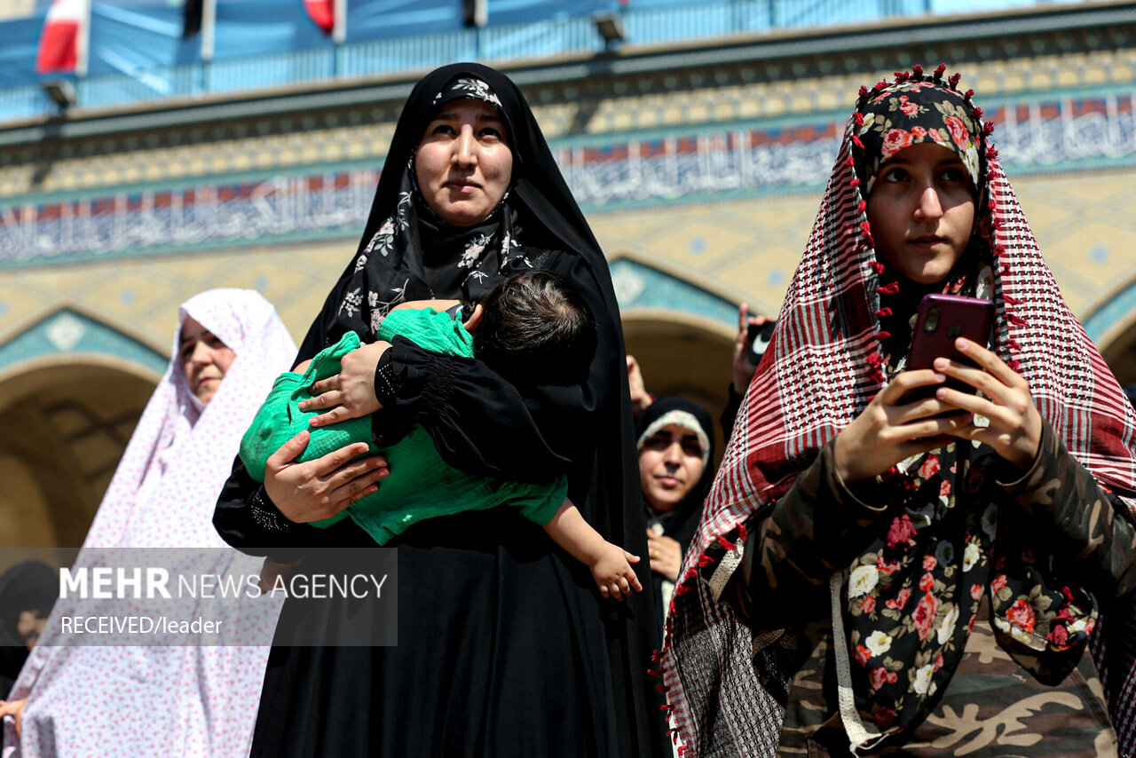
[[[426,205],[454,226],[471,226],[496,208],[512,181],[504,120],[482,100],[453,100],[426,125],[415,155]]]

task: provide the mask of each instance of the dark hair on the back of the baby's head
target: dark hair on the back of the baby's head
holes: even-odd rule
[[[482,301],[474,353],[515,384],[576,384],[595,355],[595,318],[571,282],[552,272],[512,274]]]

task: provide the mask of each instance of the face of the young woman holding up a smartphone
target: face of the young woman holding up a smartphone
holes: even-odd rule
[[[975,198],[967,167],[939,144],[904,148],[879,168],[868,198],[876,251],[919,284],[945,277],[970,242]]]

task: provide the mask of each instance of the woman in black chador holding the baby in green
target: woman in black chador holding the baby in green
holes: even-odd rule
[[[445,165],[438,145],[451,149]],[[477,360],[404,340],[374,342],[398,302],[475,301],[526,268],[566,276],[595,315],[599,347],[584,384],[513,386]],[[546,482],[567,472],[568,494],[588,523],[645,552],[608,266],[520,91],[502,74],[458,64],[415,86],[358,252],[298,360],[348,330],[373,343],[357,351],[369,356],[357,373],[367,381],[357,375],[349,391],[344,359],[333,391],[320,395],[332,402],[316,407],[374,411],[381,447],[421,425],[448,464],[473,474]],[[306,440],[293,442],[275,469],[270,463],[264,488],[235,464],[215,516],[220,534],[284,563],[296,547],[368,544],[351,519],[327,530],[298,522],[374,491],[385,463],[344,464],[358,453],[345,449],[291,464]],[[328,483],[331,508],[310,493],[316,482]],[[658,638],[650,593],[601,601],[587,570],[509,508],[429,519],[391,544],[399,551],[398,647],[275,648],[253,756],[670,752],[646,676]]]

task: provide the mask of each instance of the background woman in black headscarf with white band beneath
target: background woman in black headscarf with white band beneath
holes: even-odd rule
[[[659,398],[635,422],[659,630],[713,482],[713,424],[698,403]]]

